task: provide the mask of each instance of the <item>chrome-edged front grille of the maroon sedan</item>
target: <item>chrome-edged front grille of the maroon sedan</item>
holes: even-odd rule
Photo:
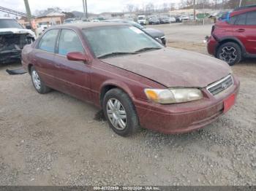
[[[227,77],[220,79],[217,82],[214,82],[213,84],[206,87],[206,89],[212,94],[217,95],[221,93],[224,90],[227,90],[230,86],[233,85],[233,77],[231,75],[228,75]]]

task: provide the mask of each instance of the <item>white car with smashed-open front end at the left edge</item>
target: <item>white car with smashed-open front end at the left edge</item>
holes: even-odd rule
[[[23,28],[17,20],[0,17],[0,63],[20,60],[21,50],[34,39],[34,32]]]

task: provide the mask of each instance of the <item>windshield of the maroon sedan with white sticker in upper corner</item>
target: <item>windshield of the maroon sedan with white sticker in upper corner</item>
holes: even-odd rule
[[[134,26],[104,26],[83,29],[98,58],[157,50],[162,44]]]

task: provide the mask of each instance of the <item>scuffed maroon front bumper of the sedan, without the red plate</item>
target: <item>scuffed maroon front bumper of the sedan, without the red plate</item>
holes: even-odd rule
[[[203,128],[224,114],[223,101],[230,95],[237,95],[239,86],[240,83],[234,78],[234,85],[219,95],[213,96],[204,89],[205,97],[202,100],[183,104],[162,105],[136,101],[140,125],[167,134]]]

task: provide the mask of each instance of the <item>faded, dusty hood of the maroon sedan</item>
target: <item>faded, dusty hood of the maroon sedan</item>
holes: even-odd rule
[[[230,66],[217,58],[174,48],[105,58],[102,61],[152,79],[165,87],[206,87],[231,73]]]

